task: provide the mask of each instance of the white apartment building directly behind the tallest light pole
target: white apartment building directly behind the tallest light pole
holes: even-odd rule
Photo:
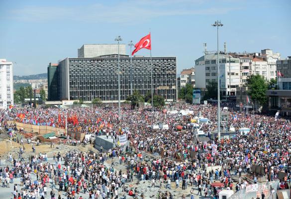
[[[206,89],[208,82],[217,82],[217,53],[206,54],[195,60],[195,88]],[[235,96],[240,86],[239,59],[223,52],[219,54],[220,89],[222,96]]]

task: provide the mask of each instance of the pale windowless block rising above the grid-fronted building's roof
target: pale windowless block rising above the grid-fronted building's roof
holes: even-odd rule
[[[84,44],[78,49],[78,58],[94,58],[112,54],[118,54],[118,44]],[[126,54],[125,44],[119,44],[119,54]]]

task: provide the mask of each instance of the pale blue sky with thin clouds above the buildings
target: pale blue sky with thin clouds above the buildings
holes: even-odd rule
[[[0,0],[0,59],[14,75],[46,73],[83,44],[133,43],[151,30],[152,56],[177,57],[178,73],[216,50],[291,56],[291,0]],[[127,46],[128,47],[128,46]],[[129,54],[129,47],[126,49]],[[136,55],[149,56],[146,49]]]

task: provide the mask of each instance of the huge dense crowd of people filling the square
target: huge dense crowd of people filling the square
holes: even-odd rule
[[[151,186],[164,187],[172,190],[194,187],[198,195],[217,197],[218,189],[211,186],[214,181],[223,183],[225,189],[239,191],[248,183],[242,174],[252,173],[252,165],[262,166],[264,172],[252,174],[250,178],[257,183],[259,177],[268,181],[279,179],[279,172],[285,172],[281,179],[280,188],[289,188],[291,180],[291,122],[286,118],[275,119],[274,116],[260,113],[246,114],[238,111],[232,103],[224,103],[228,107],[225,112],[228,121],[224,128],[234,128],[234,137],[196,139],[196,130],[191,125],[195,116],[207,117],[211,123],[200,124],[199,130],[211,137],[217,130],[217,106],[186,105],[168,106],[178,110],[176,114],[167,114],[165,110],[151,112],[150,109],[140,107],[136,110],[122,108],[121,118],[116,109],[72,108],[72,109],[12,109],[0,111],[1,125],[9,127],[8,120],[35,125],[65,126],[65,116],[68,119],[68,129],[82,133],[112,136],[118,140],[118,135],[126,134],[130,147],[125,151],[114,148],[100,154],[82,152],[66,152],[61,165],[59,159],[56,164],[44,160],[35,162],[34,158],[24,161],[13,161],[12,167],[0,169],[0,180],[3,186],[13,184],[13,178],[20,178],[20,190],[14,185],[15,197],[35,199],[44,197],[46,187],[52,186],[51,198],[60,198],[66,192],[68,199],[82,199],[79,193],[88,193],[90,199],[118,198],[123,196],[144,198],[139,188],[130,189],[127,185],[133,180],[150,182]],[[187,109],[192,115],[182,115],[179,111]],[[25,115],[25,118],[19,118]],[[164,123],[169,129],[153,129],[152,125]],[[177,130],[182,125],[183,130]],[[247,134],[240,133],[239,128],[249,128]],[[213,147],[213,145],[215,147]],[[214,149],[215,148],[215,149]],[[193,153],[194,152],[194,153]],[[148,161],[145,156],[152,154]],[[112,158],[111,166],[104,161]],[[117,164],[127,165],[127,170],[115,170]],[[116,164],[116,163],[115,163]],[[219,169],[209,169],[211,166],[221,166]],[[31,181],[31,174],[37,180]],[[233,176],[237,177],[234,183]],[[12,179],[12,181],[11,181]],[[173,187],[173,184],[176,186]],[[173,198],[171,192],[158,193],[158,197]],[[191,198],[194,198],[191,192]]]

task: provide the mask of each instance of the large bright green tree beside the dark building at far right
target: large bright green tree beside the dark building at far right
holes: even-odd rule
[[[268,82],[263,76],[249,76],[245,86],[250,90],[248,95],[251,96],[252,100],[258,101],[260,105],[264,105],[267,102]]]

